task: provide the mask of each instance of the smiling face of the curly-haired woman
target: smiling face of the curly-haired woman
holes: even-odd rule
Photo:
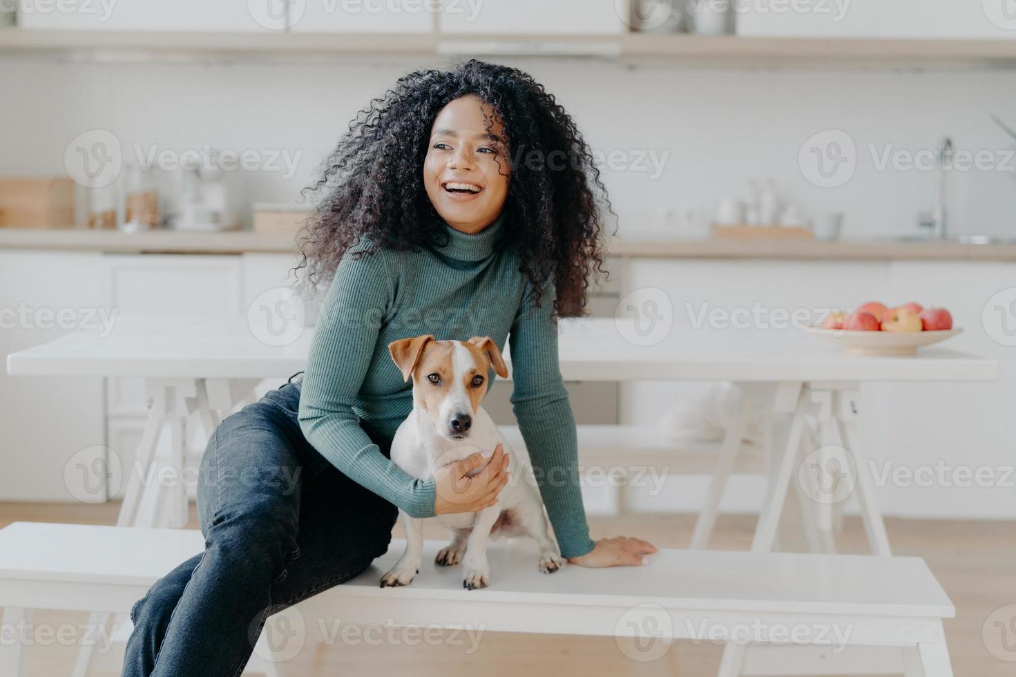
[[[424,186],[449,226],[469,234],[490,226],[504,206],[509,175],[504,127],[491,106],[469,95],[441,109],[424,160]]]

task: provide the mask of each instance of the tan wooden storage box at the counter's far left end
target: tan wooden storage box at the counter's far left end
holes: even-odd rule
[[[73,228],[74,181],[0,178],[0,228]]]

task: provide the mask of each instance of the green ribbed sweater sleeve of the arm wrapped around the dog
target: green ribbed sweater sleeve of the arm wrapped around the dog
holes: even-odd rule
[[[300,396],[300,427],[350,479],[412,517],[434,516],[434,479],[419,480],[392,463],[360,427],[353,411],[393,303],[388,253],[342,257],[325,295]]]

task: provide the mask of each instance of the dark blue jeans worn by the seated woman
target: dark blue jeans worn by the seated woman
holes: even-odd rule
[[[218,426],[198,475],[205,550],[131,610],[124,677],[235,677],[267,616],[355,577],[388,549],[397,508],[304,438],[298,380]],[[391,440],[372,439],[385,455]]]

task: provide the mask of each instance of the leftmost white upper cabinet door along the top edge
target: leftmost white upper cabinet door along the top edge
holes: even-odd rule
[[[285,0],[18,0],[17,23],[57,30],[267,32],[284,30],[291,9]]]

